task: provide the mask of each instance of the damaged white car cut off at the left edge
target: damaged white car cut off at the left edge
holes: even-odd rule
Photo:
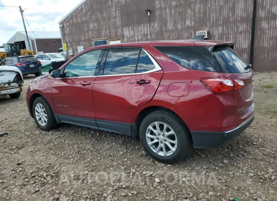
[[[23,87],[23,76],[15,66],[0,66],[0,99],[9,95],[19,98]]]

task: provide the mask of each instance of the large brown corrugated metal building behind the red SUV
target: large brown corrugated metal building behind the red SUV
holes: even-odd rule
[[[59,25],[67,55],[78,46],[182,40],[208,30],[209,40],[235,42],[255,71],[277,70],[277,1],[83,0]]]

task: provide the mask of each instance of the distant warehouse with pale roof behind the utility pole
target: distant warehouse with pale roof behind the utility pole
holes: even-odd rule
[[[60,32],[27,31],[31,49],[28,47],[25,31],[16,32],[7,42],[21,43],[23,49],[32,50],[34,54],[58,52],[62,47]]]

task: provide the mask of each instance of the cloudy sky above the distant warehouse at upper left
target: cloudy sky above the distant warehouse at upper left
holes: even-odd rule
[[[60,21],[82,0],[0,0],[0,5],[21,6],[33,31],[60,31]],[[19,8],[0,6],[0,45],[6,43],[17,31],[24,31]],[[31,31],[25,22],[27,31]]]

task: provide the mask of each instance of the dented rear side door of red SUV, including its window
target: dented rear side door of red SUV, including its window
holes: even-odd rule
[[[131,135],[134,113],[151,101],[162,76],[161,67],[141,48],[106,49],[93,85],[98,128]]]

